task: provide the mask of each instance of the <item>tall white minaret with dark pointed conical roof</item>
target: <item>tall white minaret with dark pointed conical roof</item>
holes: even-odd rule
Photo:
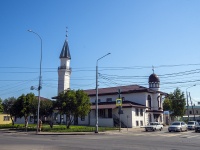
[[[66,34],[66,40],[60,53],[60,66],[58,67],[58,94],[70,88],[70,60],[71,56]]]

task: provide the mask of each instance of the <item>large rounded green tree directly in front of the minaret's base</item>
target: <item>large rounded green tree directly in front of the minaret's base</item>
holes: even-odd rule
[[[83,90],[68,90],[58,95],[56,106],[61,114],[66,115],[67,128],[70,127],[75,117],[86,116],[90,111],[90,100]]]

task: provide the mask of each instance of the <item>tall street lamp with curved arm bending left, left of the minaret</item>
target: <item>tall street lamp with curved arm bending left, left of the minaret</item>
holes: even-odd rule
[[[40,76],[39,76],[39,85],[38,88],[36,88],[36,90],[38,91],[38,110],[37,110],[37,134],[38,134],[38,130],[39,130],[39,119],[40,119],[40,90],[42,88],[41,86],[41,79],[42,79],[42,73],[41,73],[41,68],[42,68],[42,38],[39,36],[39,34],[37,34],[36,32],[32,31],[32,30],[28,30],[29,32],[34,33],[35,35],[37,35],[40,38],[41,41],[41,52],[40,52]],[[31,87],[31,90],[33,90],[34,87]]]

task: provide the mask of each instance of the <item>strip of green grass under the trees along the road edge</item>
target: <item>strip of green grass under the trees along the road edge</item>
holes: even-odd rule
[[[37,128],[36,124],[29,124],[27,130],[35,131]],[[11,124],[0,125],[0,129],[10,129],[10,130],[25,130],[24,124],[15,124],[14,126]],[[99,132],[105,132],[108,130],[118,130],[118,128],[112,127],[99,127]],[[66,125],[53,125],[51,128],[48,124],[42,125],[43,132],[94,132],[94,126],[77,126],[71,125],[69,129],[66,128]]]

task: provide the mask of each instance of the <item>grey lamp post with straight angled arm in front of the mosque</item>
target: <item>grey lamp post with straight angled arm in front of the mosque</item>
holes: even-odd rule
[[[95,133],[98,133],[98,61],[106,56],[110,55],[110,53],[102,56],[101,58],[97,59],[96,62],[96,130]]]

